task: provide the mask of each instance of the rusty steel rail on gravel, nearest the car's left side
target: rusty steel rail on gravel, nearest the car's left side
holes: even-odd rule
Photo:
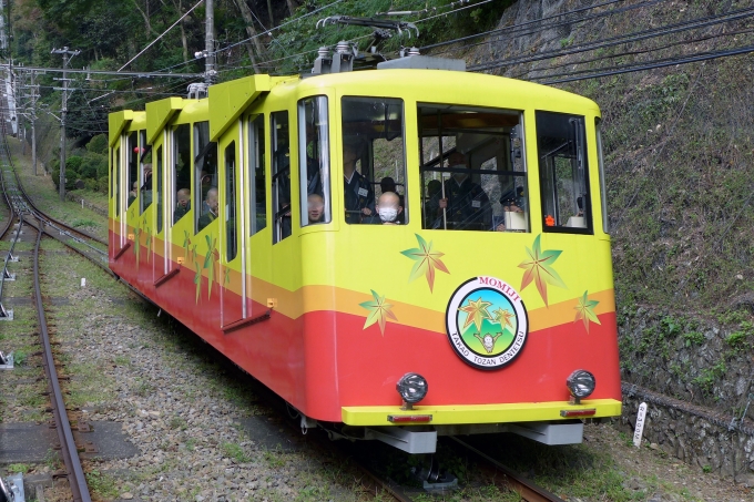
[[[55,428],[58,430],[58,438],[60,439],[61,453],[63,463],[65,464],[71,493],[75,502],[91,502],[92,498],[89,494],[89,486],[86,486],[86,477],[81,467],[73,432],[71,431],[71,422],[68,420],[65,413],[65,403],[63,402],[63,392],[58,380],[58,370],[55,369],[54,359],[52,357],[52,347],[50,345],[50,335],[48,332],[47,319],[44,316],[44,307],[42,306],[42,291],[39,285],[39,246],[42,242],[43,222],[39,222],[39,232],[37,233],[37,244],[34,246],[34,300],[37,303],[37,311],[39,318],[39,336],[44,347],[44,372],[50,382],[52,390],[52,412],[55,418]]]

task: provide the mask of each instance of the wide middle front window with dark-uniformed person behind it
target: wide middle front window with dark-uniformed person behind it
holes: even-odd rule
[[[422,228],[529,232],[521,112],[420,104]]]

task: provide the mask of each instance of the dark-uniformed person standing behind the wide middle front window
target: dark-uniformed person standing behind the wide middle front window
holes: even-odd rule
[[[458,230],[488,229],[491,207],[487,193],[471,181],[466,155],[454,152],[448,156],[454,172],[445,182],[445,197],[440,198],[438,215],[447,218],[448,227]]]

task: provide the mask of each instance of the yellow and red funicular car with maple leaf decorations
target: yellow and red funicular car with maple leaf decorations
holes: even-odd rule
[[[621,412],[600,111],[420,58],[111,114],[110,266],[303,428],[580,442]]]

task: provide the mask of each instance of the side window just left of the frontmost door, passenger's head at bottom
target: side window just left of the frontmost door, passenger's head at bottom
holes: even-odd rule
[[[210,122],[194,124],[195,232],[217,217],[217,143],[210,141]]]

